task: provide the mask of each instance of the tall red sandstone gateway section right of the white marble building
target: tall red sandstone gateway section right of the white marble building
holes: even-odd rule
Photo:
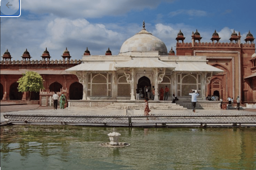
[[[230,42],[222,42],[218,33],[212,35],[212,42],[200,42],[202,37],[196,30],[192,33],[192,42],[184,43],[182,32],[176,38],[177,55],[207,56],[208,64],[224,72],[214,75],[207,85],[207,94],[217,94],[223,101],[240,96],[243,102],[256,102],[256,54],[254,38],[247,34],[245,43],[241,43],[240,33],[231,34]],[[181,42],[180,42],[181,41]]]

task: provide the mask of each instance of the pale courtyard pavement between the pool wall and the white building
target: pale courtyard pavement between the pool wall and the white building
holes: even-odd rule
[[[126,115],[126,110],[113,110],[113,109],[103,109],[103,108],[83,108],[83,109],[73,109],[66,108],[54,110],[53,107],[44,107],[39,105],[15,105],[9,103],[1,104],[1,122],[4,122],[4,114],[67,114],[67,115]],[[191,109],[188,110],[152,110],[150,114],[155,115],[172,115],[172,114],[191,114],[193,113]],[[256,114],[256,109],[240,109],[238,110],[223,110],[223,109],[197,109],[195,115],[204,114],[240,114],[240,113],[251,113]],[[143,114],[143,111],[141,111]]]

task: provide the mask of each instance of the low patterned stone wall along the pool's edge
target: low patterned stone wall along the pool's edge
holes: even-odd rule
[[[97,116],[97,115],[31,115],[4,114],[10,122],[59,123],[80,125],[122,125],[136,126],[157,124],[255,124],[256,113],[239,114],[182,114],[153,116]]]

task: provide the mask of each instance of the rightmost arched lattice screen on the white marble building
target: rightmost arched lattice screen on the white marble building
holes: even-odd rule
[[[181,73],[177,74],[177,96],[189,97],[191,89],[195,89],[202,96],[201,74],[197,73]]]

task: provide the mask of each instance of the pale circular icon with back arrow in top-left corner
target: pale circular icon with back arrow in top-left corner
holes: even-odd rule
[[[19,0],[1,0],[1,13],[4,15],[13,15],[19,8]]]

